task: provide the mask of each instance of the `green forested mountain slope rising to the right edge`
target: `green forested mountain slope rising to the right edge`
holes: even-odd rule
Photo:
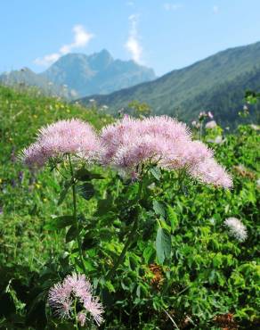
[[[148,103],[155,114],[190,121],[199,111],[214,111],[215,119],[232,124],[243,106],[246,89],[260,90],[260,42],[227,49],[161,78],[110,95],[92,95],[111,112],[133,100]],[[81,103],[88,103],[89,97]]]

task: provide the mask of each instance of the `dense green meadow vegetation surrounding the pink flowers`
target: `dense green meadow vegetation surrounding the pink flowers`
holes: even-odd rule
[[[47,169],[30,173],[16,160],[38,128],[72,117],[97,129],[112,120],[96,109],[0,87],[0,325],[4,329],[73,328],[51,318],[46,306],[50,286],[71,273],[75,264],[74,236],[53,220],[71,210],[71,196],[57,205],[63,188],[59,173]],[[85,268],[106,310],[101,328],[257,329],[260,139],[256,128],[241,126],[223,136],[222,144],[210,144],[217,160],[232,173],[232,191],[187,178],[180,185],[174,172],[147,174],[134,242],[109,280],[105,273],[133,225],[138,182],[122,182],[112,170],[92,169],[103,178],[88,178],[94,194],[78,199],[78,209],[85,235]],[[221,128],[215,132],[219,134]],[[206,131],[204,139],[212,135],[214,131]],[[223,225],[228,217],[247,227],[245,242],[228,234]],[[170,244],[159,255],[158,227],[170,233]]]

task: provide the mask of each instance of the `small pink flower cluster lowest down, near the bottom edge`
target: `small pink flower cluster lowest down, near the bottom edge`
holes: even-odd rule
[[[50,307],[60,318],[71,318],[75,299],[82,305],[82,310],[77,313],[77,321],[81,326],[85,325],[85,320],[89,315],[98,326],[103,322],[102,303],[98,298],[93,297],[92,285],[85,278],[85,275],[72,274],[67,276],[63,282],[54,285],[48,295]]]

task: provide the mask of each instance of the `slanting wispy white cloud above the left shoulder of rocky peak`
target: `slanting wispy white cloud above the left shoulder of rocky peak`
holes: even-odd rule
[[[37,57],[34,62],[37,65],[51,65],[53,62],[59,60],[62,55],[69,54],[74,49],[85,47],[93,38],[93,34],[85,31],[82,25],[75,25],[72,30],[74,33],[74,40],[71,44],[62,45],[57,53],[47,54],[44,57]]]

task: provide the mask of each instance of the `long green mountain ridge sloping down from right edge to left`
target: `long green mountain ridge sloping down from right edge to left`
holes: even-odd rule
[[[254,84],[245,85],[240,79],[243,75],[249,76],[254,74],[254,71],[260,67],[260,42],[242,45],[234,48],[228,48],[208,56],[206,59],[199,60],[191,65],[172,70],[162,77],[159,77],[150,82],[145,82],[134,87],[121,89],[110,95],[91,95],[98,104],[106,104],[110,107],[112,113],[116,113],[119,109],[126,108],[127,103],[137,100],[140,102],[148,103],[155,114],[170,114],[175,115],[176,109],[180,119],[192,120],[200,110],[208,105],[208,103],[199,102],[198,98],[201,95],[207,95],[210,91],[216,89],[218,86],[227,84],[229,89],[237,86],[236,79],[240,80],[240,86],[247,89],[251,85],[260,89],[260,77],[256,75],[257,81]],[[259,80],[259,81],[258,81]],[[221,87],[222,88],[222,87]],[[212,92],[213,93],[213,92]],[[230,93],[229,90],[223,91],[225,95]],[[234,104],[236,111],[243,102],[243,95],[240,95],[240,102]],[[210,97],[208,97],[209,99]],[[79,100],[81,103],[87,103],[87,98]],[[212,104],[215,107],[215,111],[223,111],[216,104]],[[184,108],[189,106],[190,109]],[[209,109],[210,110],[210,109]],[[189,116],[185,115],[185,112],[189,112]],[[224,120],[223,120],[224,121]]]

